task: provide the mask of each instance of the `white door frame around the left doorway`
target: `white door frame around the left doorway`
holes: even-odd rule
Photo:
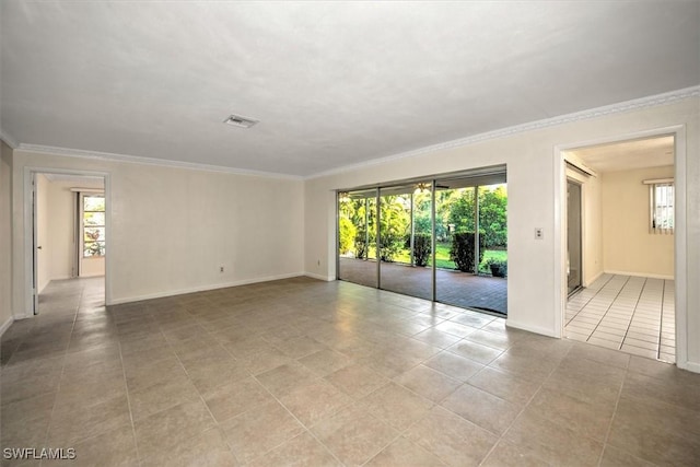
[[[38,292],[34,289],[36,281],[36,267],[35,267],[35,224],[34,224],[34,191],[33,185],[36,174],[59,174],[59,175],[73,175],[73,176],[86,176],[86,177],[102,177],[105,180],[105,237],[112,238],[112,182],[108,172],[95,172],[95,171],[80,171],[80,170],[66,170],[55,167],[42,167],[42,166],[25,166],[23,173],[23,195],[24,195],[24,316],[16,316],[15,318],[31,318],[38,313],[36,307],[36,301]],[[105,255],[105,304],[112,303],[112,261],[110,255]]]

